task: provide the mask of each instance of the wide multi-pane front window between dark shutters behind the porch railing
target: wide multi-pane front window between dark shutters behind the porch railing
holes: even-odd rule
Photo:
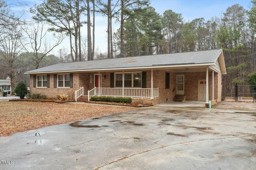
[[[116,73],[115,76],[116,86],[122,87],[123,85],[123,74]],[[126,88],[141,88],[142,86],[142,73],[134,72],[134,73],[124,73],[124,87]]]

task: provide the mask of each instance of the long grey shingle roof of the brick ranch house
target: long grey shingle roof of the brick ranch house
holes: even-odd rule
[[[158,67],[163,65],[184,65],[184,64],[206,64],[215,63],[222,49],[192,51],[186,53],[171,53],[162,55],[148,55],[138,57],[124,57],[114,59],[103,59],[93,61],[80,61],[70,63],[60,63],[46,66],[36,70],[26,72],[26,74],[40,72],[64,72],[81,70],[111,70],[114,68],[134,68],[134,67]]]

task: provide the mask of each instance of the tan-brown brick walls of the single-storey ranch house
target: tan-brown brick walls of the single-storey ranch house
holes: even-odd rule
[[[132,71],[136,72],[136,70]],[[141,72],[141,71],[138,71]],[[184,95],[186,100],[198,101],[198,80],[206,79],[206,72],[182,72],[182,73],[170,73],[170,88],[166,89],[166,70],[153,70],[153,88],[159,88],[159,98],[150,100],[144,99],[146,104],[156,104],[166,101],[172,101],[176,95],[176,75],[184,75]],[[87,95],[87,91],[94,88],[94,76],[98,72],[91,73],[74,73],[73,74],[73,88],[54,88],[54,74],[50,74],[50,88],[34,88],[33,87],[33,75],[30,75],[30,92],[45,94],[48,98],[56,98],[58,94],[66,94],[74,97],[75,90],[80,87],[84,87],[84,95]],[[100,72],[102,87],[110,87],[110,72]],[[105,77],[105,78],[104,78]],[[209,100],[212,100],[212,72],[209,71]],[[146,70],[146,88],[151,88],[151,70]],[[221,100],[221,75],[214,72],[214,99]],[[140,103],[138,98],[133,99],[134,102]]]

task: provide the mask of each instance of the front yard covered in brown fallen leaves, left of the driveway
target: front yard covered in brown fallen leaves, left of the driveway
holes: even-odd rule
[[[0,135],[10,135],[130,109],[136,109],[136,107],[52,102],[0,102]]]

